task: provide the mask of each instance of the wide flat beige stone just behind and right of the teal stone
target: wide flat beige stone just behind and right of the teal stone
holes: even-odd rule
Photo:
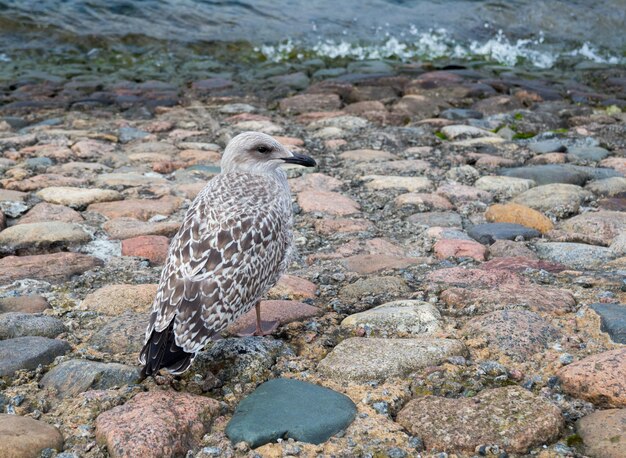
[[[467,350],[453,339],[382,339],[352,337],[339,343],[318,365],[318,371],[338,381],[383,381],[405,377]]]

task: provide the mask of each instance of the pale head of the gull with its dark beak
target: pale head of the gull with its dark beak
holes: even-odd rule
[[[281,164],[314,167],[315,160],[289,151],[273,137],[261,132],[243,132],[234,137],[222,155],[224,172],[271,173]]]

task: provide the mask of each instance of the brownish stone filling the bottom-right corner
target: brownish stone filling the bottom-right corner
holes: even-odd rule
[[[626,443],[626,409],[599,410],[576,423],[585,455],[591,458],[622,458]]]

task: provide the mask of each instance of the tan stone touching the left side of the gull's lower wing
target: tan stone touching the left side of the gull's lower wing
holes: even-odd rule
[[[127,311],[147,312],[156,296],[156,284],[107,285],[89,293],[78,306],[104,315],[118,316]]]

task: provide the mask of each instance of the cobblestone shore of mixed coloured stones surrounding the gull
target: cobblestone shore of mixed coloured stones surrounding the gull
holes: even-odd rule
[[[167,446],[184,455],[190,443],[196,458],[441,457],[446,447],[448,457],[552,458],[606,447],[602,456],[610,444],[594,427],[608,428],[606,409],[626,407],[626,71],[555,82],[384,61],[320,70],[330,69],[0,85],[0,331],[16,327],[9,311],[21,314],[11,318],[24,323],[21,338],[46,329],[66,343],[33,366],[19,360],[20,337],[2,336],[2,354],[18,354],[12,365],[0,358],[4,412],[55,425],[64,457],[143,450],[139,431],[158,423],[146,406],[124,430],[97,418],[161,392],[219,402],[174,414],[201,433],[172,433]],[[288,301],[277,305],[287,317],[275,337],[225,339],[182,377],[139,382],[169,239],[243,130],[319,163],[288,171],[298,253],[269,298]],[[506,237],[491,224],[514,221],[524,226]],[[28,230],[12,230],[21,224]],[[398,300],[409,302],[388,305],[402,310],[387,318],[373,312]],[[607,320],[617,323],[608,333]],[[398,340],[436,351],[422,360]],[[386,345],[381,375],[369,363]],[[598,358],[603,370],[581,368]],[[235,407],[276,377],[347,395],[355,421],[320,445],[231,444]],[[478,395],[495,413],[466,403]],[[460,412],[476,420],[456,422]],[[481,422],[490,415],[516,425],[497,446]]]

